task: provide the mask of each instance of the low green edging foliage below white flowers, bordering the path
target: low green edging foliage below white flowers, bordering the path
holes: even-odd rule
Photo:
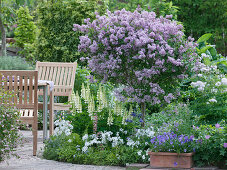
[[[140,141],[143,141],[143,139]],[[95,143],[95,141],[93,142]],[[111,142],[108,141],[107,143]],[[133,148],[126,145],[111,147],[107,144],[94,144],[86,151],[83,151],[83,146],[85,146],[85,143],[77,134],[68,137],[64,135],[52,136],[45,145],[43,156],[46,159],[76,164],[125,166],[127,163],[147,163],[148,156],[145,160],[146,151],[140,150],[141,146]],[[140,154],[138,154],[138,151]],[[142,155],[144,155],[144,159],[142,159]]]

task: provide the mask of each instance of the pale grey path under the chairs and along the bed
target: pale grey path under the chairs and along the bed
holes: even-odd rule
[[[42,131],[38,132],[38,153],[32,156],[32,132],[21,131],[24,136],[24,146],[14,152],[19,158],[11,157],[0,162],[0,170],[125,170],[123,167],[77,165],[42,159]]]

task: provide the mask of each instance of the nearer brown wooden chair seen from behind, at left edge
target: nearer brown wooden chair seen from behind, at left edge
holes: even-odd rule
[[[15,94],[8,104],[14,104],[19,110],[22,122],[32,125],[35,156],[38,135],[38,71],[0,70],[0,88]]]

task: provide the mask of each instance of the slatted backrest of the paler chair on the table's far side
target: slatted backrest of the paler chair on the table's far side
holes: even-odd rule
[[[54,82],[54,96],[68,96],[74,87],[77,63],[37,62],[39,80]]]

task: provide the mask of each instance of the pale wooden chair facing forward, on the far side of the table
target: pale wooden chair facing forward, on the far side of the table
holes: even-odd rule
[[[53,134],[53,111],[69,110],[71,105],[64,103],[54,103],[54,96],[67,96],[70,99],[74,87],[77,63],[60,63],[60,62],[37,62],[36,70],[38,70],[39,80],[48,80],[54,82],[53,91],[49,91],[50,103],[48,109],[50,112],[50,135]],[[42,95],[42,90],[38,91],[38,95]],[[43,108],[43,103],[38,104],[38,108]]]

